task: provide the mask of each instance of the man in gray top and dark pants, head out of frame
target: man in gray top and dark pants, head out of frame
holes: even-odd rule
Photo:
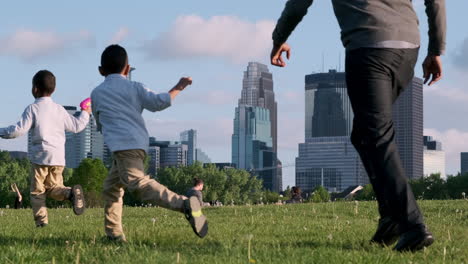
[[[289,0],[273,32],[271,63],[286,66],[286,40],[313,0]],[[354,111],[351,141],[369,175],[380,220],[372,242],[398,251],[420,250],[434,241],[408,185],[394,141],[392,104],[412,80],[419,50],[418,18],[411,0],[332,0],[346,48],[346,82]],[[424,82],[442,77],[445,0],[425,0],[429,22]]]

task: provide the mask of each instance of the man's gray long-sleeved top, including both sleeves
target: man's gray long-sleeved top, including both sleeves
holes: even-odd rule
[[[313,0],[289,0],[273,32],[280,45],[307,14]],[[411,0],[332,0],[341,40],[347,50],[376,47],[388,41],[397,45],[420,45],[419,21]],[[429,22],[429,55],[445,51],[445,0],[425,0]],[[412,45],[411,45],[412,44]]]

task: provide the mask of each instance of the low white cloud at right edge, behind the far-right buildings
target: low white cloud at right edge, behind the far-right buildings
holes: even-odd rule
[[[468,132],[457,129],[438,130],[424,129],[424,135],[432,136],[442,142],[445,151],[447,174],[456,174],[460,171],[460,152],[468,152]]]

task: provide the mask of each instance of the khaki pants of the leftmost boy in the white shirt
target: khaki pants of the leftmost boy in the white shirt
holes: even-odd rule
[[[70,196],[71,188],[63,186],[63,169],[63,166],[32,164],[30,195],[36,225],[49,222],[46,197],[63,201]]]

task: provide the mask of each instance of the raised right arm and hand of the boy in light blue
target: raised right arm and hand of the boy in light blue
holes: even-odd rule
[[[185,87],[192,84],[192,78],[184,77],[168,93],[156,93],[143,86],[139,87],[139,96],[144,109],[151,112],[162,111],[171,106],[171,101],[184,90]]]

